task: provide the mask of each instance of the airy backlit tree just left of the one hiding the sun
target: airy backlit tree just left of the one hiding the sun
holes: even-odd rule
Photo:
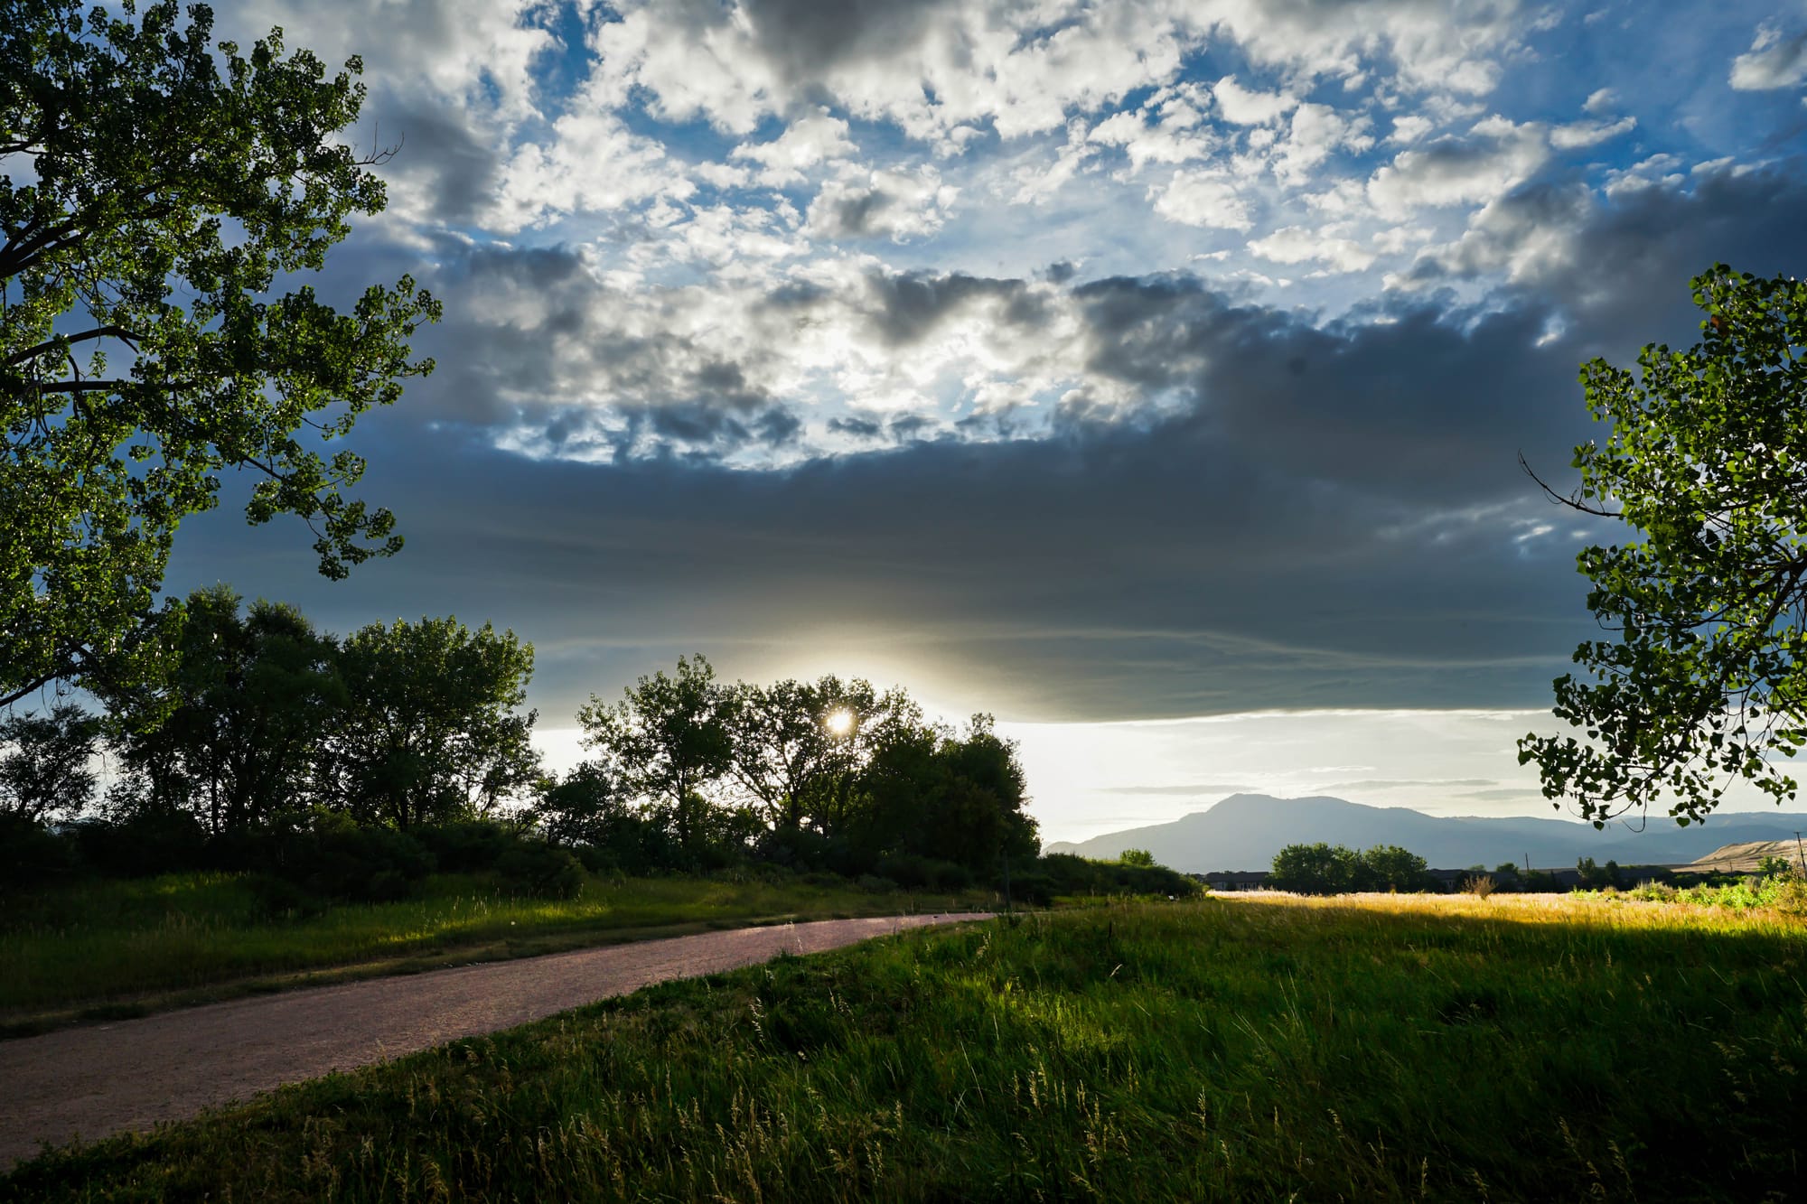
[[[728,694],[703,656],[678,658],[678,676],[658,671],[609,705],[578,709],[584,745],[623,786],[665,812],[678,844],[692,851],[707,830],[703,795],[734,763]]]

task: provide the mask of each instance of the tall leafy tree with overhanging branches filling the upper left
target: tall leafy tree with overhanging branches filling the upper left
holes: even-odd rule
[[[280,31],[215,58],[204,5],[134,14],[0,0],[0,705],[168,669],[154,598],[226,468],[260,477],[251,522],[314,528],[329,577],[399,546],[345,494],[363,461],[302,439],[428,372],[407,340],[439,304],[408,277],[349,313],[273,295],[383,208],[381,155],[334,139],[361,65],[327,78]]]

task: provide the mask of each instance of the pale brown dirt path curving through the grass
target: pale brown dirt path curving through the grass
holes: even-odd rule
[[[96,1141],[284,1083],[511,1029],[667,978],[820,953],[981,913],[743,927],[231,1000],[0,1041],[0,1171],[40,1143]]]

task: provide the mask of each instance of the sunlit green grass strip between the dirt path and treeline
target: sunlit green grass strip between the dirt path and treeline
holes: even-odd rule
[[[327,969],[394,973],[705,927],[941,911],[954,902],[744,875],[589,875],[576,898],[538,900],[499,893],[484,875],[435,875],[417,898],[271,915],[246,875],[87,882],[7,900],[0,1032],[273,989],[298,976],[318,982]]]

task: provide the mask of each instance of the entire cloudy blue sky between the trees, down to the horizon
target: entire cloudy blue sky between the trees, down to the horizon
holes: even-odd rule
[[[184,528],[345,631],[455,613],[576,705],[679,653],[1023,741],[1044,835],[1229,788],[1545,814],[1592,631],[1596,354],[1807,266],[1807,5],[242,0],[361,54],[390,206],[323,289],[445,300],[367,419],[407,550]]]

